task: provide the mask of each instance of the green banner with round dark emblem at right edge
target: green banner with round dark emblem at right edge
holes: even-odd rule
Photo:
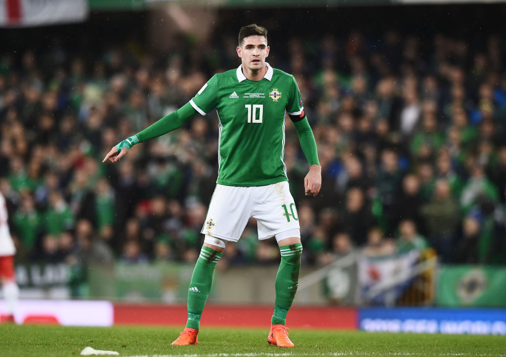
[[[506,268],[448,265],[439,269],[436,303],[441,306],[504,306]]]

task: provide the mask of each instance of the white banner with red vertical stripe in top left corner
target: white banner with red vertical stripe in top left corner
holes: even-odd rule
[[[0,27],[28,27],[81,22],[87,0],[0,0]]]

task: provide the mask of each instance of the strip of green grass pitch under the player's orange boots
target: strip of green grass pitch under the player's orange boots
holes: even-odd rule
[[[268,329],[203,328],[197,346],[171,346],[180,329],[0,325],[0,356],[77,356],[86,346],[121,356],[506,356],[506,337],[290,331],[295,348],[267,344]]]

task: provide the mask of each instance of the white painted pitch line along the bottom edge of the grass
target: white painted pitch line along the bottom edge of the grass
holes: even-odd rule
[[[389,356],[425,356],[426,353],[417,352],[330,352],[330,353],[194,353],[194,354],[139,354],[125,357],[284,357],[284,356],[378,356],[378,355],[389,355]],[[495,357],[495,356],[506,356],[504,353],[500,354],[488,354],[488,353],[438,353],[433,354],[438,356],[473,356],[473,357]]]

